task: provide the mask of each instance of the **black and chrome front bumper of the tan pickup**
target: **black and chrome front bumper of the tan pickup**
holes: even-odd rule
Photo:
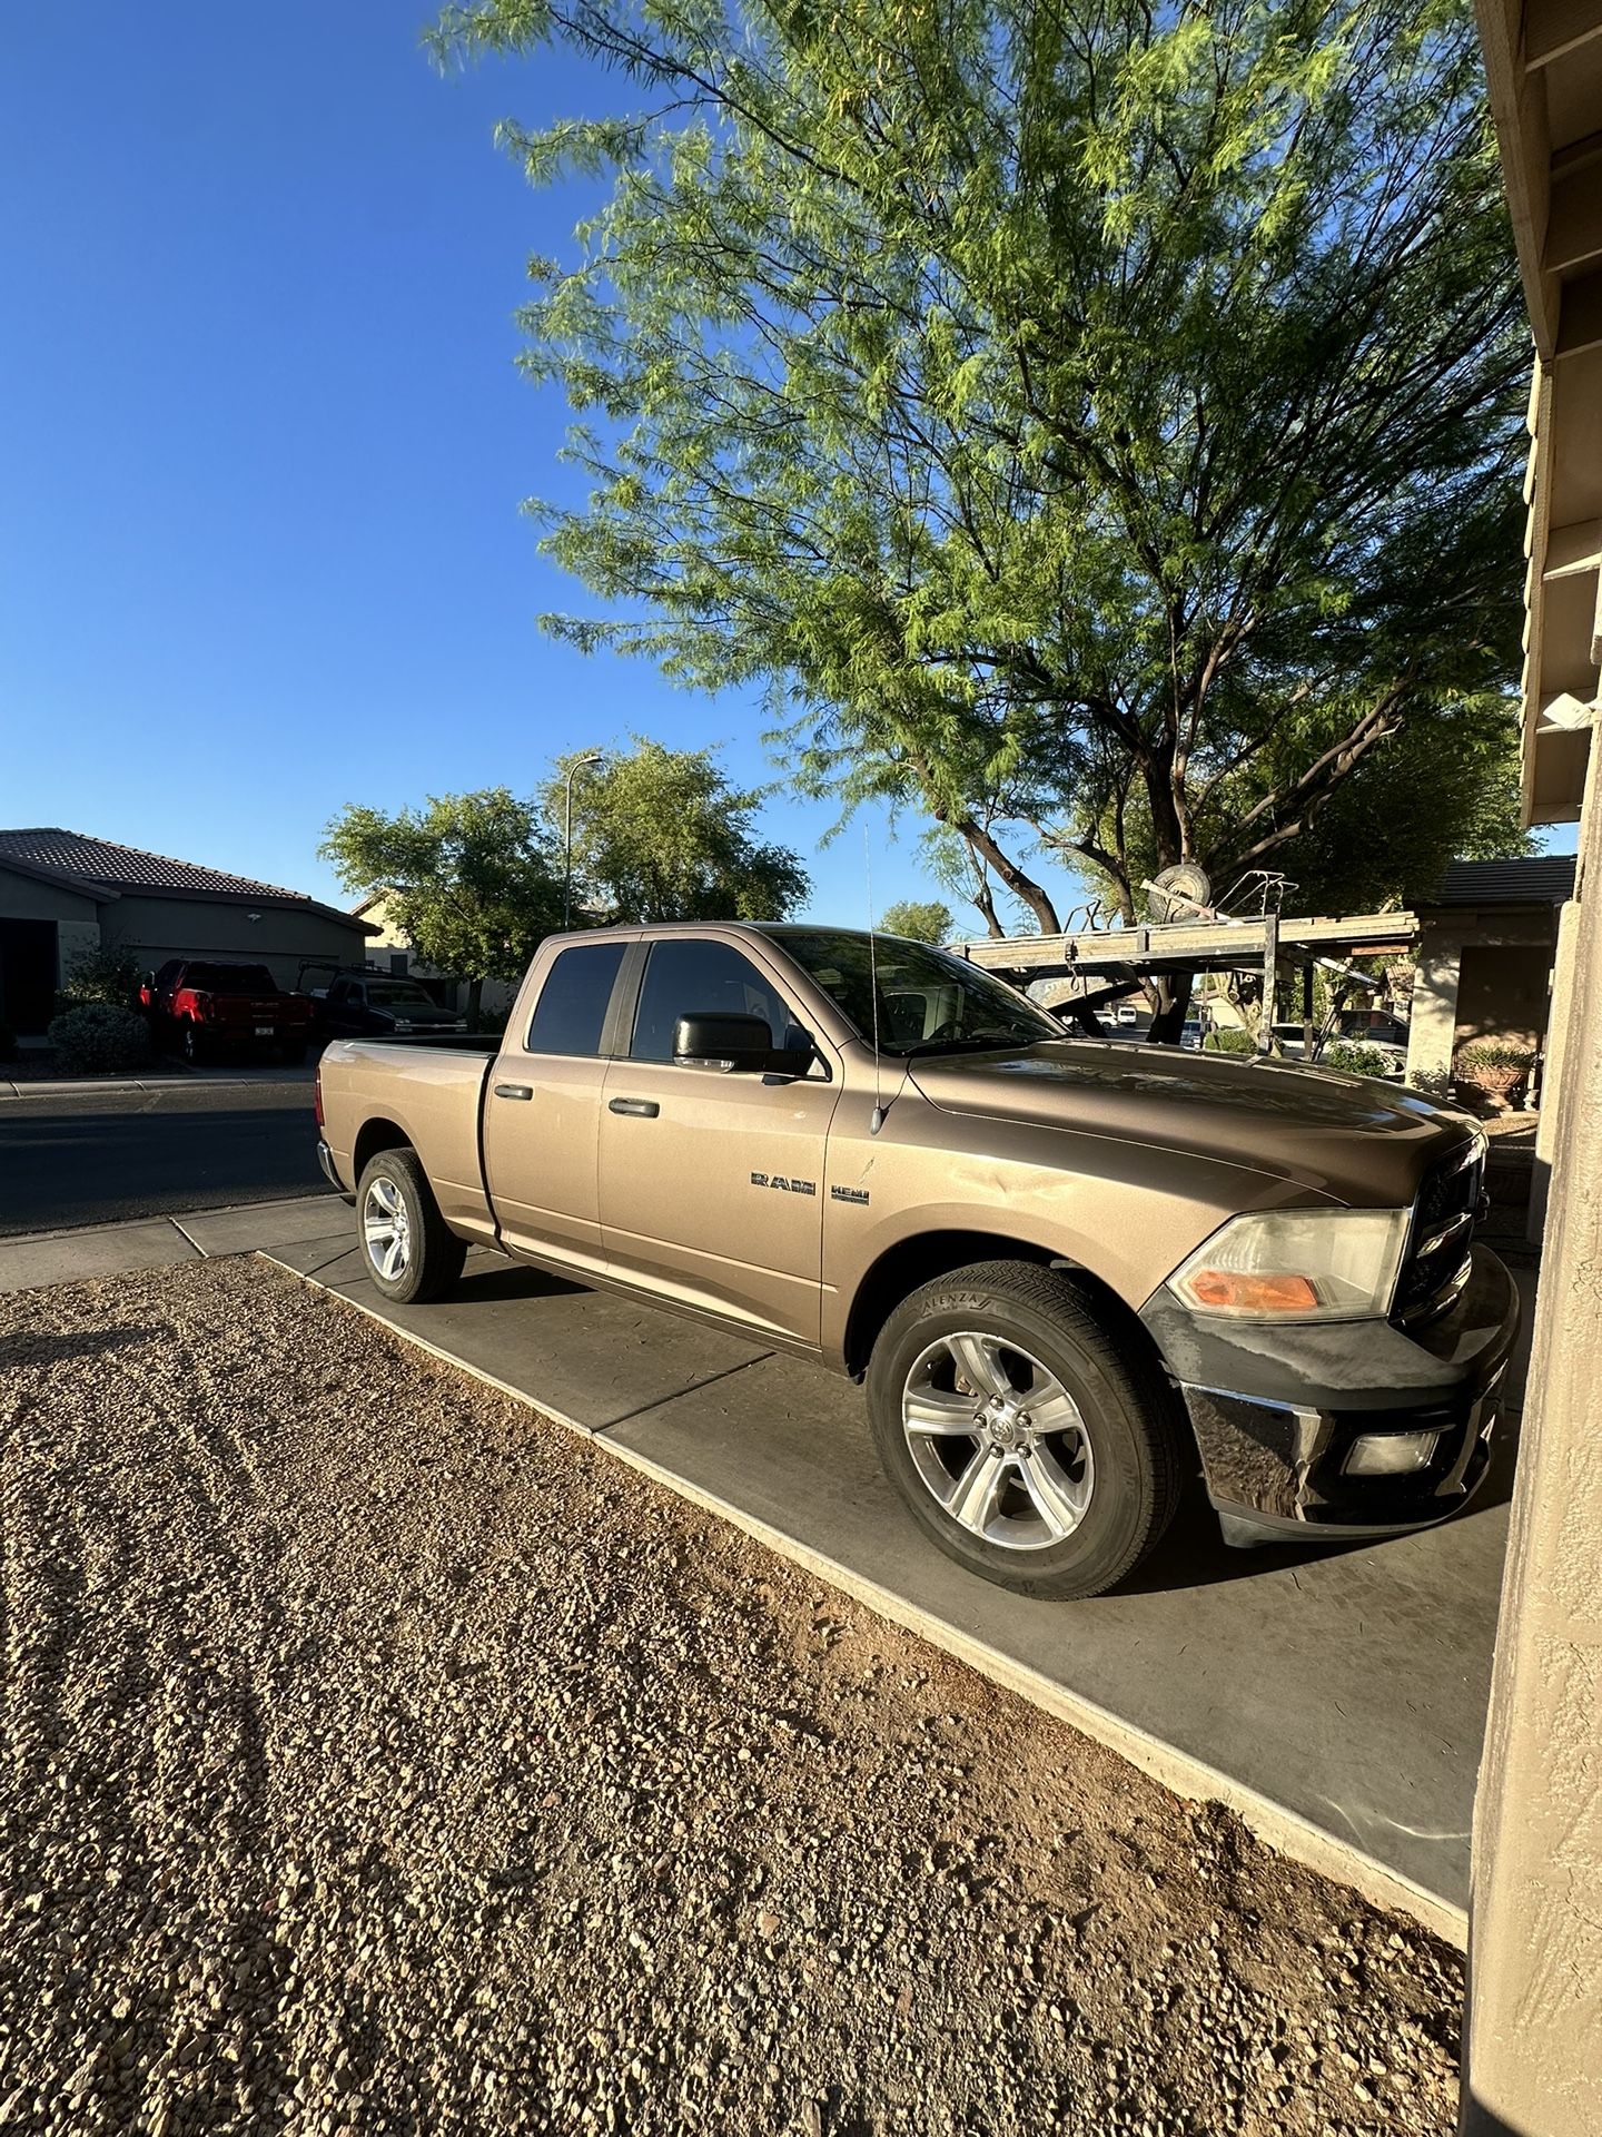
[[[1405,1534],[1457,1513],[1485,1479],[1519,1333],[1519,1293],[1485,1246],[1457,1306],[1423,1329],[1226,1321],[1166,1289],[1141,1319],[1179,1381],[1226,1543]],[[1401,1432],[1438,1434],[1420,1468],[1348,1472],[1358,1438]]]

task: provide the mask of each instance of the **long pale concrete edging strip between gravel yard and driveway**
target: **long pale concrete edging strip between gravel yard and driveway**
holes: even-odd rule
[[[1027,1699],[1032,1705],[1042,1707],[1047,1714],[1053,1714],[1057,1720],[1068,1722],[1081,1735],[1091,1737],[1096,1744],[1106,1746],[1106,1750],[1128,1759],[1128,1763],[1138,1767],[1143,1774],[1149,1774],[1151,1780],[1168,1789],[1171,1795],[1179,1795],[1188,1801],[1224,1804],[1275,1853],[1288,1855],[1292,1861],[1316,1870],[1333,1883],[1350,1885],[1363,1900],[1384,1913],[1410,1915],[1425,1930],[1440,1936],[1457,1951],[1467,1951],[1465,1908],[1452,1906],[1448,1900],[1427,1891],[1401,1872],[1388,1870],[1361,1849],[1350,1846],[1318,1825],[1312,1825],[1294,1810],[1286,1810],[1282,1804],[1275,1804],[1273,1797],[1260,1795],[1256,1789],[1232,1780],[1228,1774],[1220,1774],[1218,1767],[1209,1765],[1205,1759],[1196,1759],[1194,1754],[1166,1744],[1162,1737],[1151,1735],[1136,1722],[1124,1720],[1119,1714],[1109,1712],[1094,1699],[1083,1699],[1064,1690],[1064,1686],[1053,1684],[1027,1665],[1000,1654],[983,1639],[963,1633],[959,1626],[925,1611],[916,1603],[908,1603],[893,1588],[882,1588],[878,1581],[854,1573],[850,1566],[839,1564],[822,1551],[814,1551],[805,1543],[799,1543],[782,1528],[773,1528],[758,1515],[745,1513],[733,1500],[722,1498],[722,1494],[707,1492],[703,1485],[690,1483],[686,1477],[679,1477],[677,1470],[654,1462],[649,1455],[643,1455],[632,1447],[622,1447],[617,1440],[607,1436],[604,1428],[585,1425],[577,1417],[568,1417],[566,1413],[538,1402],[538,1398],[530,1395],[525,1389],[513,1387],[508,1381],[500,1381],[496,1374],[483,1372],[478,1366],[470,1366],[453,1351],[431,1344],[425,1336],[397,1327],[361,1299],[346,1297],[346,1293],[337,1291],[333,1284],[325,1284],[316,1276],[305,1276],[288,1261],[280,1261],[269,1248],[258,1248],[258,1252],[263,1261],[271,1261],[273,1267],[286,1269],[303,1284],[314,1284],[329,1297],[340,1299],[359,1314],[365,1314],[367,1321],[389,1329],[389,1333],[397,1336],[402,1342],[410,1342],[440,1363],[453,1366],[457,1372],[466,1372],[472,1381],[478,1381],[483,1387],[491,1387],[498,1395],[506,1395],[511,1402],[519,1402],[536,1417],[562,1425],[566,1432],[590,1440],[594,1447],[602,1447],[609,1455],[613,1455],[613,1460],[651,1477],[656,1483],[675,1492],[703,1513],[713,1513],[733,1528],[743,1530],[756,1543],[778,1551],[780,1558],[788,1558],[816,1579],[839,1588],[854,1603],[871,1609],[878,1618],[886,1618],[891,1624],[901,1626],[901,1631],[912,1633],[918,1639],[927,1639],[931,1648],[940,1648],[944,1654],[951,1654],[955,1660],[978,1671],[978,1675],[989,1678],[993,1684],[1004,1686],[1021,1699]]]

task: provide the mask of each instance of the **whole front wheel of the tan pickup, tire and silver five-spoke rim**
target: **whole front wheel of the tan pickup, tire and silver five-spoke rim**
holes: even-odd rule
[[[1179,1498],[1179,1419],[1156,1361],[1034,1263],[980,1261],[904,1299],[874,1344],[867,1417],[918,1528],[1017,1594],[1102,1594]]]

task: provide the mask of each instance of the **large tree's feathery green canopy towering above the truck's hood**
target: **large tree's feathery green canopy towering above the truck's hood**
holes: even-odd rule
[[[1030,853],[1132,917],[1181,857],[1339,906],[1517,846],[1527,327],[1463,0],[478,0],[436,45],[639,92],[504,130],[602,192],[523,318],[587,489],[532,509],[604,609],[560,637],[765,688],[788,776],[918,808],[987,919],[1057,925]]]

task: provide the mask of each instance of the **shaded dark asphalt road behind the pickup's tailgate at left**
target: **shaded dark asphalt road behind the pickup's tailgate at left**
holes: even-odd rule
[[[0,1237],[327,1192],[310,1077],[0,1103]]]

